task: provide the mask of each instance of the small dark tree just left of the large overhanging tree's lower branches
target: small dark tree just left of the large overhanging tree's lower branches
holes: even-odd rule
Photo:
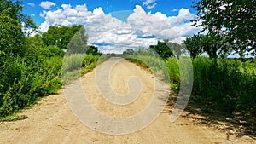
[[[186,49],[189,51],[190,56],[195,59],[196,56],[201,55],[201,36],[194,35],[193,37],[187,37],[184,41]]]

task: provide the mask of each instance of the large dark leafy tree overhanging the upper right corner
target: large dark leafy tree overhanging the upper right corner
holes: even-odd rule
[[[223,35],[236,53],[256,55],[255,0],[195,0],[193,7],[198,11],[195,25],[202,26],[202,32]]]

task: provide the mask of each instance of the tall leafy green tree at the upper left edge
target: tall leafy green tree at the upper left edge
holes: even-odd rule
[[[0,0],[0,52],[6,55],[20,55],[26,49],[24,29],[36,30],[32,18],[22,14],[20,1]],[[22,26],[23,24],[23,26]]]

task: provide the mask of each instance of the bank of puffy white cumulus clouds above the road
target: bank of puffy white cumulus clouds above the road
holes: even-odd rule
[[[142,6],[137,5],[124,22],[111,14],[105,14],[101,7],[89,11],[85,4],[75,7],[62,4],[60,9],[44,10],[40,16],[45,19],[39,27],[41,32],[58,24],[84,25],[89,44],[98,46],[103,53],[122,53],[128,48],[148,48],[160,39],[181,43],[185,37],[200,31],[188,22],[195,16],[189,9],[180,9],[177,16],[168,17],[160,12],[146,13]]]

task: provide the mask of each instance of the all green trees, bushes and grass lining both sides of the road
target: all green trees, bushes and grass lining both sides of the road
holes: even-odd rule
[[[178,61],[191,59],[194,81],[189,112],[204,115],[212,123],[236,124],[246,129],[241,135],[256,135],[256,4],[252,0],[228,2],[195,0],[194,22],[202,32],[181,44],[163,40],[147,49],[126,49],[123,56],[168,78],[175,92],[181,78]],[[20,109],[57,93],[62,84],[114,56],[102,57],[95,46],[88,45],[80,25],[50,26],[48,32],[31,37],[36,31],[31,17],[22,14],[20,1],[1,0],[0,120],[20,119],[15,116]],[[234,54],[239,59],[228,59]]]

